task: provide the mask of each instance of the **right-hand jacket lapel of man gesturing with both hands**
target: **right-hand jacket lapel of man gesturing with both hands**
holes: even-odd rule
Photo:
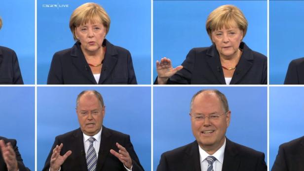
[[[104,165],[108,154],[110,153],[111,144],[113,144],[113,142],[110,141],[110,137],[111,133],[106,127],[103,126],[101,132],[101,141],[98,152],[96,171],[101,171],[101,168]]]

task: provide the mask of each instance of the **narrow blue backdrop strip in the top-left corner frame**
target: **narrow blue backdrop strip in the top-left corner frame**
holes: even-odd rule
[[[35,0],[0,0],[0,46],[13,49],[24,84],[35,84]]]

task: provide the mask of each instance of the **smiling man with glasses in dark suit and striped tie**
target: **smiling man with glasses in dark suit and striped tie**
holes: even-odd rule
[[[163,153],[157,171],[267,171],[264,153],[226,138],[230,114],[224,94],[197,92],[190,107],[196,140]]]

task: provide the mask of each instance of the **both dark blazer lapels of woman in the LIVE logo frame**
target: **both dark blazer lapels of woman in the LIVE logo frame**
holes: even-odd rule
[[[117,62],[118,53],[117,53],[114,45],[111,44],[107,39],[104,39],[103,46],[106,46],[107,51],[105,54],[103,67],[101,68],[102,71],[101,71],[101,75],[100,75],[98,84],[103,84],[103,82],[110,76],[110,73]],[[76,66],[76,68],[79,69],[80,72],[82,74],[84,74],[84,76],[92,82],[92,84],[97,84],[97,82],[93,76],[93,72],[85,60],[85,57],[80,48],[79,42],[76,42],[74,44],[74,46],[72,47],[71,56],[73,58],[73,64]]]

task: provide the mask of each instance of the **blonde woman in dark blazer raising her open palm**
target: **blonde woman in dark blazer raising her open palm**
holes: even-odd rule
[[[233,5],[212,11],[206,31],[210,47],[193,48],[182,66],[171,60],[156,61],[158,76],[154,84],[267,84],[267,58],[242,42],[248,22]]]

